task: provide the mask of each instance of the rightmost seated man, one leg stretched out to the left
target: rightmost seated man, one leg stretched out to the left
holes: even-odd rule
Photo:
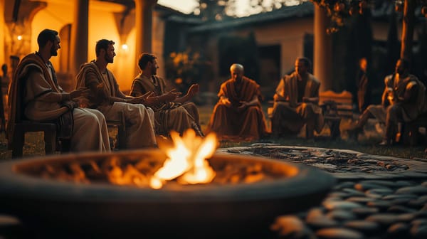
[[[426,87],[415,75],[409,74],[407,60],[399,59],[396,63],[396,73],[385,80],[381,106],[369,106],[359,117],[357,124],[350,133],[358,133],[370,115],[386,123],[386,132],[381,145],[389,145],[399,141],[401,129],[399,123],[411,122],[419,115],[427,112]],[[386,107],[386,97],[390,105]]]

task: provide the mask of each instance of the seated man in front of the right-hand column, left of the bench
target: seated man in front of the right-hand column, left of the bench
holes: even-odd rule
[[[274,95],[272,134],[297,134],[304,124],[307,127],[307,139],[323,128],[324,118],[319,107],[320,82],[308,73],[311,63],[307,58],[295,60],[295,72],[285,75]]]

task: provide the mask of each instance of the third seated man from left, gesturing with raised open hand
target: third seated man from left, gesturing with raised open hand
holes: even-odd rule
[[[159,65],[155,55],[143,53],[139,57],[138,65],[142,72],[133,80],[130,95],[139,97],[154,92],[155,101],[147,106],[154,110],[156,133],[169,136],[171,130],[182,134],[186,129],[192,128],[196,134],[202,136],[199,111],[194,103],[187,102],[199,92],[199,85],[191,85],[186,95],[178,97],[181,93],[175,92],[175,89],[166,92],[166,83],[156,75]]]

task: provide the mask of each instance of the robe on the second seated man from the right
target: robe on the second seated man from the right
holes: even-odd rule
[[[304,97],[319,97],[319,88],[319,80],[309,73]],[[297,134],[308,120],[313,121],[317,133],[322,131],[325,124],[322,108],[312,102],[297,102],[297,73],[282,78],[276,88],[276,94],[285,101],[274,103],[271,119],[273,134]]]

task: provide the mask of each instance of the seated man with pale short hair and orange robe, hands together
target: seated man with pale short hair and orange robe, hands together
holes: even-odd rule
[[[243,65],[233,64],[230,71],[231,79],[221,85],[207,133],[216,132],[220,139],[259,139],[267,132],[260,87],[243,76]]]

